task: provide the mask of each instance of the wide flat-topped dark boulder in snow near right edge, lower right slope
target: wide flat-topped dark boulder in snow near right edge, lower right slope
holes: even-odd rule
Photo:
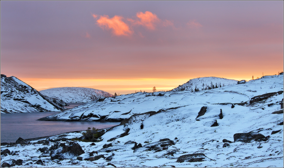
[[[251,142],[251,141],[257,141],[257,140],[263,140],[265,141],[265,136],[257,133],[257,132],[248,132],[248,133],[236,133],[234,134],[234,141],[241,141],[241,142]]]

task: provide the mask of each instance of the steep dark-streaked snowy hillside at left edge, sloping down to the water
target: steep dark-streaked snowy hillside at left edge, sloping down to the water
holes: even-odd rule
[[[18,78],[1,74],[1,113],[48,112],[63,110]]]

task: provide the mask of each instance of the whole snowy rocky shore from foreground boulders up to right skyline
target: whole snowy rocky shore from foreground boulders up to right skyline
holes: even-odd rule
[[[121,124],[93,142],[71,132],[1,143],[1,166],[283,167],[283,95],[283,75],[273,75],[198,92],[90,102],[48,118]],[[84,153],[76,153],[80,147]]]

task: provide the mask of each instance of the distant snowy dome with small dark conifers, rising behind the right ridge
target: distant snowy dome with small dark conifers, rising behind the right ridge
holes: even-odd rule
[[[227,86],[231,84],[237,84],[238,81],[226,78],[217,78],[217,77],[202,77],[190,79],[187,83],[179,85],[173,91],[195,91],[195,90],[209,90],[216,87]]]

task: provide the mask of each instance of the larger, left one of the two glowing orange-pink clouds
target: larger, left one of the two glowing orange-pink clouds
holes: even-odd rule
[[[93,14],[93,17],[97,18],[97,15]],[[100,16],[100,19],[97,19],[97,24],[102,29],[112,30],[112,34],[115,36],[129,36],[132,34],[132,31],[122,19],[122,16],[117,15],[113,18],[109,18],[109,16]]]

